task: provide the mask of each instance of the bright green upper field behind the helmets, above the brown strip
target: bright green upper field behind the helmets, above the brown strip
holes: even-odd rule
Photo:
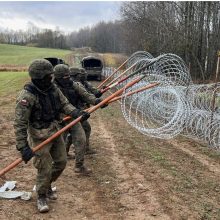
[[[37,58],[59,57],[65,60],[70,50],[0,44],[0,65],[25,65]]]

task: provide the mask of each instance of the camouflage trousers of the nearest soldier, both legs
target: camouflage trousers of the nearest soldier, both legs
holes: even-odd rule
[[[31,140],[33,146],[40,144],[42,140]],[[67,158],[63,137],[60,136],[53,142],[45,145],[36,152],[34,166],[38,170],[36,179],[36,191],[38,195],[46,194],[51,182],[55,181],[64,170]]]

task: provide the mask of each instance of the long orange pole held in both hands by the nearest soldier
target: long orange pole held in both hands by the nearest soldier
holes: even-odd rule
[[[121,88],[120,90],[116,91],[115,93],[113,93],[112,95],[110,95],[109,97],[107,97],[106,99],[104,99],[102,102],[100,102],[99,104],[91,107],[88,112],[92,113],[95,110],[97,110],[99,107],[101,107],[102,105],[104,105],[105,103],[107,103],[109,100],[113,99],[114,97],[118,96],[119,94],[121,94],[124,89],[129,88],[130,86],[133,86],[135,83],[139,82],[140,80],[142,80],[145,76],[141,76],[135,80],[133,80],[132,82],[129,82],[124,88]],[[43,148],[46,144],[50,143],[52,140],[54,140],[55,138],[57,138],[58,136],[60,136],[63,132],[65,132],[66,130],[70,129],[72,126],[74,126],[75,124],[77,124],[80,120],[82,119],[82,116],[78,117],[77,119],[73,120],[72,122],[70,122],[68,125],[66,125],[65,127],[63,127],[62,129],[60,129],[59,131],[57,131],[55,134],[53,134],[51,137],[49,137],[48,139],[46,139],[45,141],[43,141],[42,143],[40,143],[39,145],[37,145],[36,147],[34,147],[32,150],[33,152],[36,152],[38,150],[40,150],[41,148]],[[14,162],[12,162],[11,164],[9,164],[7,167],[5,167],[4,169],[2,169],[0,171],[0,177],[2,175],[4,175],[5,173],[7,173],[9,170],[13,169],[14,167],[16,167],[19,163],[22,162],[21,158],[16,159]]]

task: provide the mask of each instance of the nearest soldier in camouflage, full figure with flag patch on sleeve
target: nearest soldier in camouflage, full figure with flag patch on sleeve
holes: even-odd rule
[[[51,82],[53,66],[45,59],[34,60],[28,69],[31,82],[24,86],[15,108],[16,148],[27,163],[33,156],[37,169],[36,191],[39,212],[48,212],[47,198],[56,200],[51,189],[66,166],[66,149],[59,136],[42,149],[33,153],[32,147],[40,144],[59,129],[60,113],[82,120],[88,113],[73,107],[62,92]]]

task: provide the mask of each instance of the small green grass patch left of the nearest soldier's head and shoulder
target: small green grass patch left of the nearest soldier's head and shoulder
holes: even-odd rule
[[[27,72],[0,72],[0,98],[17,94],[28,80]]]

